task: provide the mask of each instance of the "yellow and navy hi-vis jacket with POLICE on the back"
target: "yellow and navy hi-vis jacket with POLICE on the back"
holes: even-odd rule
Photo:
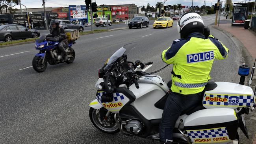
[[[191,33],[186,39],[177,39],[162,53],[167,64],[173,64],[171,91],[196,94],[204,90],[210,78],[214,59],[225,59],[228,48],[213,36]]]

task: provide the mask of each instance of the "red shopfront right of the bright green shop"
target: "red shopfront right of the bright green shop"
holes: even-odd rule
[[[111,7],[111,14],[112,14],[112,19],[118,19],[118,20],[127,20],[129,15],[128,15],[128,7]]]

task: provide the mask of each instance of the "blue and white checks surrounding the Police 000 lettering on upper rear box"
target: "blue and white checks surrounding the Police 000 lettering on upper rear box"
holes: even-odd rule
[[[219,97],[219,98],[226,98],[227,102],[213,102],[210,100],[205,100],[206,96],[210,96],[210,98],[213,97]],[[204,100],[203,100],[203,104],[204,105],[223,105],[223,106],[228,106],[228,105],[232,105],[232,106],[250,106],[250,104],[253,102],[253,98],[251,95],[241,95],[241,96],[236,96],[237,99],[231,98],[234,97],[232,95],[213,95],[213,94],[205,94],[204,95]],[[236,100],[236,102],[229,102],[229,100]],[[232,103],[232,104],[231,104]],[[237,104],[237,105],[234,105]]]

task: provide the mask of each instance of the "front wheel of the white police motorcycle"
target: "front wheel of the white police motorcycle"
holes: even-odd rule
[[[120,131],[113,118],[113,114],[110,114],[105,124],[103,124],[102,120],[100,119],[100,109],[93,109],[90,107],[89,116],[93,125],[104,133],[114,134]]]

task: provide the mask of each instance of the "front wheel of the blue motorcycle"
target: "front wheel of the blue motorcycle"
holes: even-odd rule
[[[32,66],[33,66],[35,71],[37,71],[37,72],[45,71],[45,69],[47,68],[47,61],[45,59],[44,63],[42,63],[42,62],[43,62],[43,58],[42,57],[35,56],[33,58]]]

